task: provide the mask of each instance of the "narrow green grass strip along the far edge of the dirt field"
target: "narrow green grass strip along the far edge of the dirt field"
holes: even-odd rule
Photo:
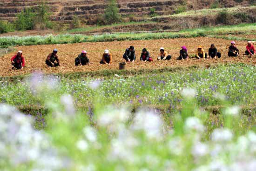
[[[122,40],[143,40],[143,39],[173,39],[173,38],[191,38],[208,37],[223,34],[243,34],[255,33],[256,23],[240,24],[234,26],[206,27],[200,29],[186,29],[180,32],[164,33],[116,33],[85,36],[81,34],[61,34],[46,36],[27,36],[27,37],[0,37],[0,46],[28,46],[44,44],[67,44],[81,42],[104,42],[104,41],[122,41]],[[255,39],[251,39],[255,40]]]

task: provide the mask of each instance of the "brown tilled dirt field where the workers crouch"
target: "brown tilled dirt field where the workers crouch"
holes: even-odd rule
[[[222,53],[221,59],[189,59],[188,61],[176,60],[179,55],[179,50],[182,45],[186,45],[189,49],[189,55],[194,55],[196,47],[200,44],[205,51],[208,52],[208,48],[211,43],[214,43]],[[41,71],[45,73],[67,73],[67,72],[88,72],[106,69],[118,69],[119,63],[122,62],[122,54],[124,50],[130,45],[135,46],[136,61],[131,65],[127,65],[127,69],[141,69],[141,68],[163,68],[163,67],[175,67],[175,66],[208,66],[209,64],[217,63],[237,63],[243,62],[247,64],[256,65],[256,57],[248,58],[242,55],[245,51],[246,41],[237,41],[237,47],[240,49],[240,57],[229,58],[227,57],[228,46],[230,41],[225,39],[214,38],[180,38],[180,39],[157,39],[157,40],[135,40],[135,41],[114,41],[114,42],[95,42],[95,43],[79,43],[79,44],[64,44],[64,45],[40,45],[40,46],[20,46],[16,47],[17,50],[23,51],[23,56],[26,60],[26,67],[24,70],[12,70],[10,58],[15,54],[9,53],[3,57],[0,57],[0,76],[14,76],[23,75],[35,71]],[[160,47],[163,46],[165,50],[172,55],[172,59],[169,61],[157,61],[156,58],[159,54]],[[141,49],[146,47],[153,57],[153,62],[141,62],[139,60]],[[61,59],[60,67],[48,67],[45,64],[45,59],[48,53],[51,53],[54,48],[59,50],[58,55]],[[113,55],[112,65],[100,65],[102,53],[104,49],[109,49]],[[74,66],[74,59],[81,53],[82,50],[87,50],[89,59],[91,61],[90,66]]]

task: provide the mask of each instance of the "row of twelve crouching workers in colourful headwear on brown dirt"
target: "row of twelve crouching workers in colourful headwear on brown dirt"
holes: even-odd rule
[[[182,49],[180,50],[180,56],[177,58],[177,60],[184,60],[184,59],[188,60],[189,54],[188,54],[187,47],[182,46],[181,48]],[[57,52],[58,52],[58,50],[54,49],[53,53],[50,53],[47,56],[47,59],[46,59],[47,66],[60,66],[60,59],[57,55]],[[211,58],[211,59],[216,59],[217,57],[221,58],[221,53],[219,53],[217,51],[214,44],[212,44],[210,46],[208,53],[209,53],[209,58]],[[251,41],[248,41],[248,45],[246,46],[245,54],[246,55],[254,55],[255,54],[255,48]],[[228,56],[236,57],[238,55],[239,55],[239,50],[236,47],[236,43],[234,41],[231,41],[231,46],[229,46]],[[161,47],[160,54],[157,59],[158,60],[170,60],[171,58],[172,58],[171,55],[169,55],[164,50],[164,48]],[[197,58],[197,59],[206,59],[207,58],[207,53],[205,53],[205,51],[202,49],[202,46],[198,46],[196,54],[195,54],[195,58]],[[135,56],[134,46],[130,46],[129,48],[127,48],[125,50],[125,53],[123,54],[123,59],[125,59],[127,62],[135,61],[136,56]],[[153,61],[153,58],[150,56],[150,53],[147,51],[146,48],[142,49],[140,60],[144,61],[144,62]],[[12,69],[23,69],[23,67],[25,66],[25,59],[22,56],[22,51],[18,51],[18,53],[11,58],[11,62],[12,62]],[[102,55],[100,64],[109,64],[110,65],[111,62],[112,62],[112,55],[106,49]],[[83,65],[87,65],[87,64],[88,65],[90,64],[90,60],[88,58],[87,52],[82,51],[81,54],[79,54],[78,57],[75,59],[75,65],[83,66]]]

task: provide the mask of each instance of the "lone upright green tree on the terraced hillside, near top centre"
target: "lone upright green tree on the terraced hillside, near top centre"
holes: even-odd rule
[[[105,24],[118,23],[121,20],[116,0],[108,0],[108,7],[104,11]]]

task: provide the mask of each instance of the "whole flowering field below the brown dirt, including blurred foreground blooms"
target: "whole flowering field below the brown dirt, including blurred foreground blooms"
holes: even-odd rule
[[[254,171],[255,83],[244,64],[2,78],[0,169]]]

